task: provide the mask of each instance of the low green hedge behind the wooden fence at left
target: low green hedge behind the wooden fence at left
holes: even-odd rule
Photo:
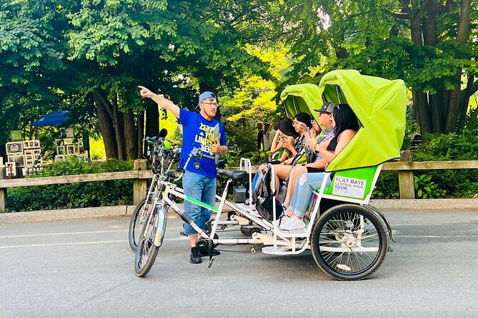
[[[57,175],[81,175],[86,173],[109,173],[129,171],[133,161],[109,159],[101,163],[84,163],[70,158],[52,163],[35,177]],[[7,195],[7,212],[31,210],[55,210],[76,207],[99,207],[124,205],[133,202],[132,180],[96,181],[66,185],[41,185],[25,188],[11,188]]]

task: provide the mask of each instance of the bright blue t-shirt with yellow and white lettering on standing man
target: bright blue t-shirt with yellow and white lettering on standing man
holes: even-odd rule
[[[214,155],[214,153],[212,153],[211,146],[214,143],[214,128],[216,126],[216,134],[218,131],[220,133],[220,136],[216,135],[216,138],[219,139],[219,143],[221,145],[227,145],[226,131],[224,131],[224,126],[214,118],[209,121],[202,117],[200,113],[186,111],[185,109],[180,108],[179,122],[183,126],[183,144],[181,147],[181,159],[179,160],[179,167],[184,167],[188,155],[191,153],[193,145],[195,145],[196,148],[200,147],[202,153],[206,155]],[[216,178],[217,171],[214,160],[201,158],[201,160],[199,160],[199,164],[201,167],[196,170],[196,168],[194,168],[194,161],[191,159],[186,167],[186,170],[190,171],[191,173],[197,173],[199,175],[205,175],[206,177]]]

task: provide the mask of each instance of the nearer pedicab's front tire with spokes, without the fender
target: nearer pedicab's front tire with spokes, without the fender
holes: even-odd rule
[[[159,247],[154,245],[154,236],[156,235],[158,225],[158,213],[153,212],[151,220],[144,223],[141,230],[141,239],[136,248],[136,257],[134,257],[134,272],[139,277],[144,277],[153,267]]]

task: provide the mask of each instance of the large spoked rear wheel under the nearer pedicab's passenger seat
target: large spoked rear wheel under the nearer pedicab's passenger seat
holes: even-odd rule
[[[312,256],[327,275],[359,280],[378,270],[387,252],[382,220],[360,205],[336,205],[314,224]]]

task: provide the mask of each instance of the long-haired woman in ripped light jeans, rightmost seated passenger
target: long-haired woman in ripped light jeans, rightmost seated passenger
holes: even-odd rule
[[[329,164],[339,154],[345,146],[352,140],[354,135],[359,130],[357,117],[352,108],[345,104],[337,105],[334,108],[334,115],[332,117],[332,124],[334,125],[334,138],[331,140],[317,144],[312,140],[309,145],[314,150],[319,152],[319,155],[324,157],[324,160]],[[315,143],[315,144],[312,144]],[[305,227],[302,220],[304,218],[310,198],[312,198],[312,191],[319,189],[322,186],[326,173],[303,173],[299,175],[299,182],[297,182],[289,207],[287,207],[286,215],[279,219],[280,228],[282,230],[298,230]],[[327,180],[327,185],[331,180]],[[282,220],[284,219],[285,220]]]

